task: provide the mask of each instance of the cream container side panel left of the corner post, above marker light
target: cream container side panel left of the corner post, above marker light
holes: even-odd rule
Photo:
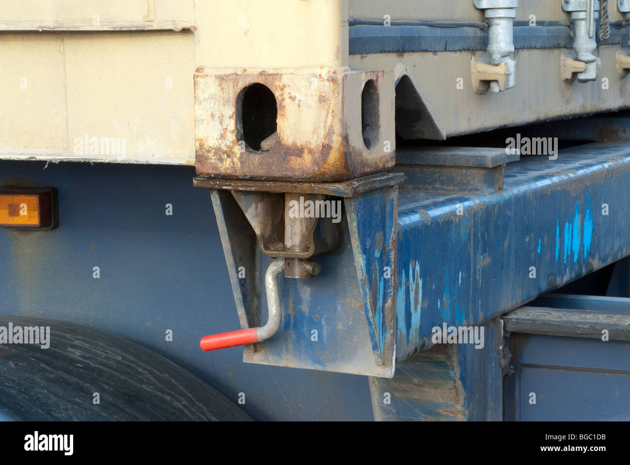
[[[2,158],[194,164],[193,33],[1,33],[0,43]]]

